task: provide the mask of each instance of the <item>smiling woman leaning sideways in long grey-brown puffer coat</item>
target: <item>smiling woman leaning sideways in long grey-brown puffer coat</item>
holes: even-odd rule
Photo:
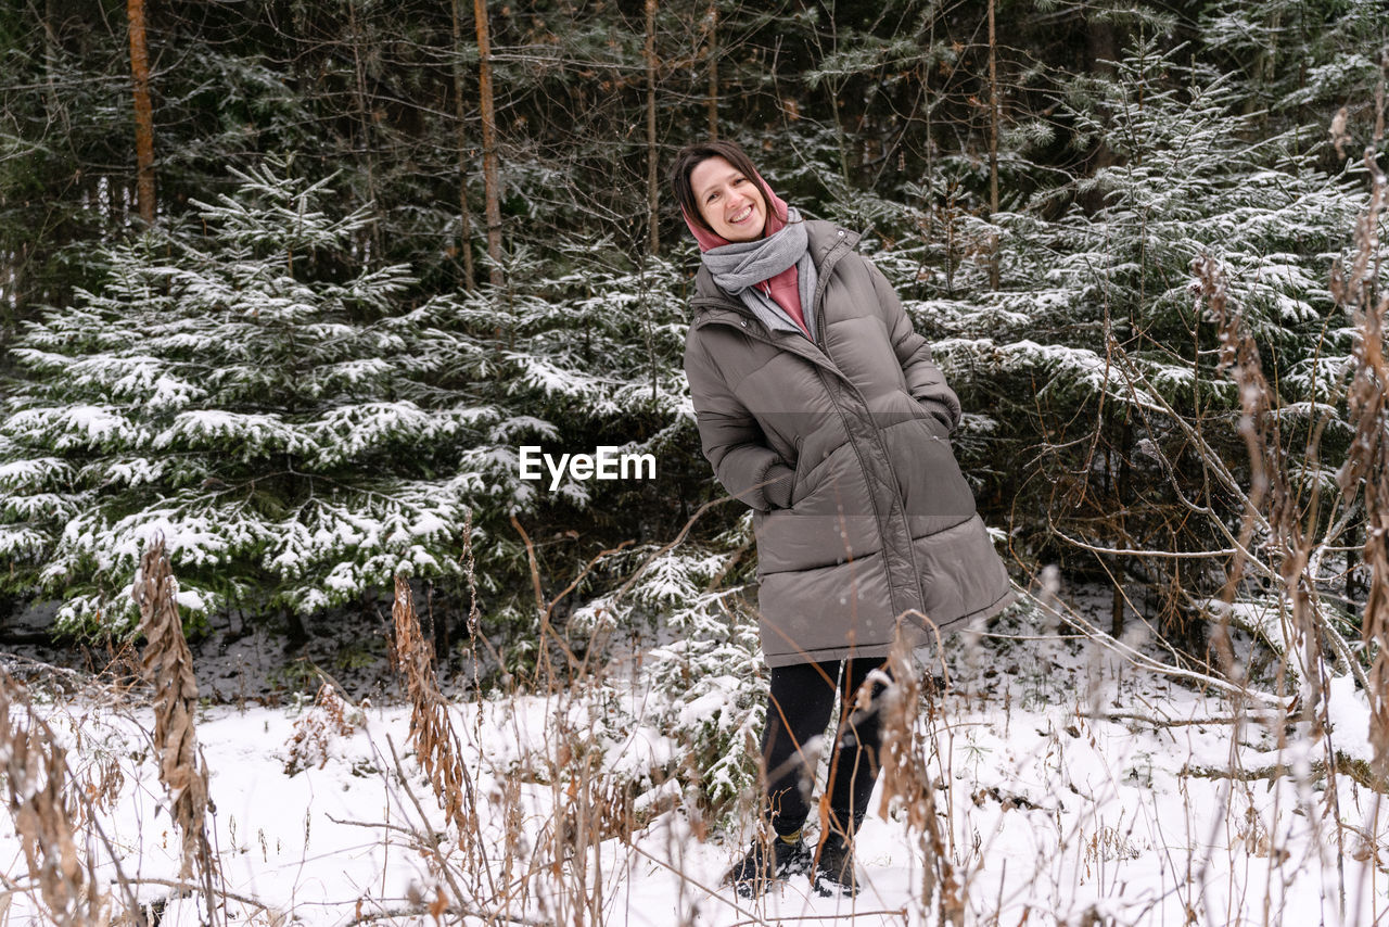
[[[993,614],[1008,577],[947,435],[960,400],[931,363],[858,236],[801,220],[731,142],[688,146],[671,182],[699,242],[685,372],[704,456],[754,509],[771,702],[765,816],[729,881],[753,895],[814,867],[822,894],[857,891],[853,838],[878,776],[878,723],[843,713],[828,820],[801,839],[836,688],[853,706],[899,637]],[[871,696],[882,689],[876,681]]]

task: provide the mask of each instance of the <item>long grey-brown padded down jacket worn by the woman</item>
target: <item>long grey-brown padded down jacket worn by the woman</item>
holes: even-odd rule
[[[885,656],[988,616],[1008,575],[947,435],[960,400],[858,236],[808,221],[815,342],[700,267],[685,345],[704,456],[756,513],[768,666]]]

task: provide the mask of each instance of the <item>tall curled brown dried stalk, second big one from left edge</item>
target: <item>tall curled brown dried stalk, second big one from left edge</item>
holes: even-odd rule
[[[157,536],[140,559],[131,593],[140,609],[140,632],[146,638],[144,677],[154,685],[154,750],[160,759],[160,781],[169,791],[169,812],[183,839],[179,878],[197,873],[208,919],[215,920],[213,876],[217,859],[207,839],[207,769],[199,762],[193,725],[197,680],[174,599],[176,592],[178,581],[169,570],[164,538]]]

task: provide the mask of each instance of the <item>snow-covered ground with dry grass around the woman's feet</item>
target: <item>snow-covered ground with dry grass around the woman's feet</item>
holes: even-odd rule
[[[215,803],[218,916],[1303,927],[1375,924],[1389,910],[1386,827],[1363,763],[1368,712],[1349,678],[1332,681],[1331,730],[1314,734],[1308,721],[1240,714],[1213,688],[1015,620],[957,639],[947,663],[951,688],[915,731],[945,852],[924,849],[901,801],[881,813],[879,782],[853,899],[818,898],[806,877],[740,899],[720,880],[750,830],[711,827],[674,780],[621,795],[613,782],[650,782],[651,770],[678,766],[681,748],[640,723],[654,695],[618,678],[549,698],[450,702],[471,795],[461,831],[411,749],[408,706],[306,696],[207,707],[196,721]],[[158,914],[150,923],[207,923],[197,895],[171,888],[186,880],[151,759],[153,713],[138,694],[29,689],[68,748],[86,795],[79,842],[115,909],[128,891]],[[0,824],[0,923],[46,921],[13,820]]]

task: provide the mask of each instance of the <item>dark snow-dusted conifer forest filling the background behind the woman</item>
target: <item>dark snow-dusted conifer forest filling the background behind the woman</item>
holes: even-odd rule
[[[864,232],[1020,582],[1207,659],[1217,599],[1281,595],[1290,513],[1356,639],[1386,42],[1364,0],[6,4],[0,639],[36,599],[131,632],[160,532],[193,634],[331,620],[368,659],[404,574],[446,660],[657,623],[751,659],[681,371],[665,170],[704,136]],[[550,491],[525,443],[658,478]]]

